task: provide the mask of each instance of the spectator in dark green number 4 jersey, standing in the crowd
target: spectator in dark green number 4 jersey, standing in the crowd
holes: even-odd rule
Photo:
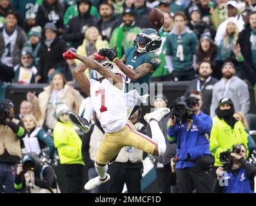
[[[166,37],[166,64],[172,72],[172,79],[195,79],[195,52],[197,50],[197,35],[186,25],[184,12],[176,12],[173,17],[174,28]]]

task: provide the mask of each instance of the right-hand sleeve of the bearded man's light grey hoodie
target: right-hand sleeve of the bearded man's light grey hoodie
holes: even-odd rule
[[[237,88],[237,93],[239,95],[239,104],[241,104],[241,112],[243,114],[247,114],[250,109],[250,95],[247,84],[244,82],[244,84],[241,84]]]

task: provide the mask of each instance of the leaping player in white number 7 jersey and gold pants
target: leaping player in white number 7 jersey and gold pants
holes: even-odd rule
[[[64,59],[79,59],[81,61],[74,70],[75,79],[77,79],[79,86],[83,86],[83,91],[86,90],[90,96],[99,122],[105,131],[103,140],[99,144],[95,162],[95,169],[99,176],[89,180],[84,185],[84,189],[94,189],[110,180],[110,175],[106,173],[108,162],[123,147],[131,146],[159,156],[164,154],[166,143],[157,121],[170,113],[170,109],[161,108],[145,115],[144,119],[149,122],[151,127],[152,138],[143,135],[135,129],[128,118],[137,100],[144,102],[146,98],[140,96],[135,89],[124,93],[125,76],[115,63],[103,61],[100,64],[71,50],[63,53],[63,57]],[[99,81],[87,79],[84,75],[87,67],[97,71]],[[133,102],[132,106],[130,102]]]

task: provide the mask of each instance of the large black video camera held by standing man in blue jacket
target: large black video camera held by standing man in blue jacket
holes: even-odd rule
[[[179,117],[184,120],[191,119],[192,114],[196,111],[192,106],[195,106],[198,103],[199,98],[193,96],[182,96],[177,98],[171,108],[170,118]]]

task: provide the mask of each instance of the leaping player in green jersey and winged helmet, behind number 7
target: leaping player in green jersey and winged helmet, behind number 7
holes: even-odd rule
[[[155,52],[160,48],[162,39],[156,30],[147,28],[137,35],[134,42],[135,46],[128,48],[122,59],[117,57],[117,53],[113,49],[102,49],[99,51],[99,55],[115,62],[126,74],[126,92],[136,89],[140,95],[144,95],[149,92],[153,71],[161,64],[161,59]],[[139,107],[135,106],[131,115]],[[90,128],[88,122],[90,122],[93,112],[92,104],[88,104],[83,118],[75,113],[69,113],[69,117],[77,127],[87,132]]]

